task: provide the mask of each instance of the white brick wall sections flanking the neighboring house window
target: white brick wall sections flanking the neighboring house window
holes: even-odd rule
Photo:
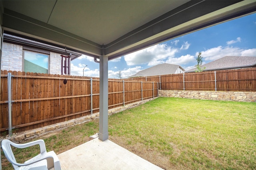
[[[21,45],[3,43],[1,70],[22,71]],[[58,53],[50,52],[50,74],[61,74],[61,57]]]

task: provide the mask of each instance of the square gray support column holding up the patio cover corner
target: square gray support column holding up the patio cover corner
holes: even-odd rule
[[[99,139],[108,139],[108,56],[100,56],[100,132]]]

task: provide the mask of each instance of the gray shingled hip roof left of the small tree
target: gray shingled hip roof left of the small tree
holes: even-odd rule
[[[156,66],[146,68],[145,70],[141,70],[141,71],[137,72],[136,74],[129,76],[129,78],[156,76],[156,75],[164,75],[164,74],[174,74],[179,67],[180,67],[180,69],[185,71],[184,68],[182,68],[179,65],[167,64],[167,63],[158,64]]]

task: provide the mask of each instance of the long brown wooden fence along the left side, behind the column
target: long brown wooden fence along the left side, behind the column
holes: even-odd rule
[[[11,98],[8,102],[8,72]],[[66,84],[64,84],[64,80]],[[0,131],[25,131],[99,111],[99,78],[1,71]],[[108,80],[109,109],[158,96],[158,83]],[[8,109],[8,104],[12,104]],[[10,106],[10,105],[9,105]]]

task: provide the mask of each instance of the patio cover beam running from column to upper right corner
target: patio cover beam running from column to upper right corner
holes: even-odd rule
[[[200,3],[196,1],[194,5],[189,4],[192,5],[190,8],[188,8],[188,3],[179,7],[186,7],[186,9],[181,12],[175,11],[176,8],[168,13],[168,15],[170,15],[169,17],[165,16],[166,19],[160,17],[159,21],[154,21],[156,23],[151,26],[143,25],[124,37],[121,37],[122,39],[116,40],[118,43],[106,45],[106,55],[109,56],[109,59],[115,59],[131,53],[131,51],[138,51],[180,35],[210,27],[256,11],[256,2],[247,0],[242,2],[207,0],[200,1]],[[206,8],[208,6],[211,8]],[[174,14],[172,14],[172,12]],[[177,20],[177,18],[180,19]],[[159,33],[156,33],[156,31]]]

